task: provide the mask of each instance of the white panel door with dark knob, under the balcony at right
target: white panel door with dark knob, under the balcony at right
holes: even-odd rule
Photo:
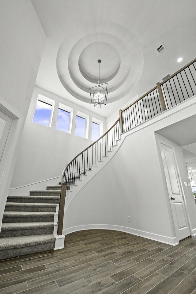
[[[169,192],[176,237],[178,238],[178,241],[180,241],[190,236],[190,226],[184,204],[184,197],[179,181],[173,149],[161,143],[160,149]]]

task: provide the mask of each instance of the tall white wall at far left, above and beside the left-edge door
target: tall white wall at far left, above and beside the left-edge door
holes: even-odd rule
[[[0,39],[0,110],[13,119],[0,166],[1,223],[17,147],[46,42],[30,0],[1,1]]]

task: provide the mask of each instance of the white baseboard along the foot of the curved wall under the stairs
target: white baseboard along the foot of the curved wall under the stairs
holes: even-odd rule
[[[154,241],[158,241],[158,242],[163,242],[169,245],[177,245],[179,244],[179,242],[177,241],[176,237],[172,238],[172,237],[168,237],[168,236],[162,236],[162,235],[158,235],[158,234],[153,234],[150,232],[145,232],[145,231],[141,231],[141,230],[135,230],[132,228],[128,228],[128,227],[123,227],[123,226],[116,226],[116,225],[103,225],[103,224],[97,224],[97,225],[83,225],[83,226],[74,226],[74,227],[70,227],[67,228],[65,230],[63,230],[63,235],[67,235],[70,233],[73,233],[75,231],[80,231],[80,230],[93,230],[93,229],[103,229],[103,230],[117,230],[117,231],[122,231],[125,233],[130,233],[133,235],[137,235],[140,237],[144,237],[147,239],[151,239]]]

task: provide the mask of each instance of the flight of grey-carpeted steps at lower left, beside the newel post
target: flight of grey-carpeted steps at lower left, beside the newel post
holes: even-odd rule
[[[53,250],[61,186],[8,196],[0,234],[0,260]]]

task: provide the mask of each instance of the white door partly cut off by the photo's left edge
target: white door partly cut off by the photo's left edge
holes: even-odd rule
[[[5,113],[0,111],[0,162],[3,154],[3,150],[6,145],[9,129],[12,123],[12,119]]]

